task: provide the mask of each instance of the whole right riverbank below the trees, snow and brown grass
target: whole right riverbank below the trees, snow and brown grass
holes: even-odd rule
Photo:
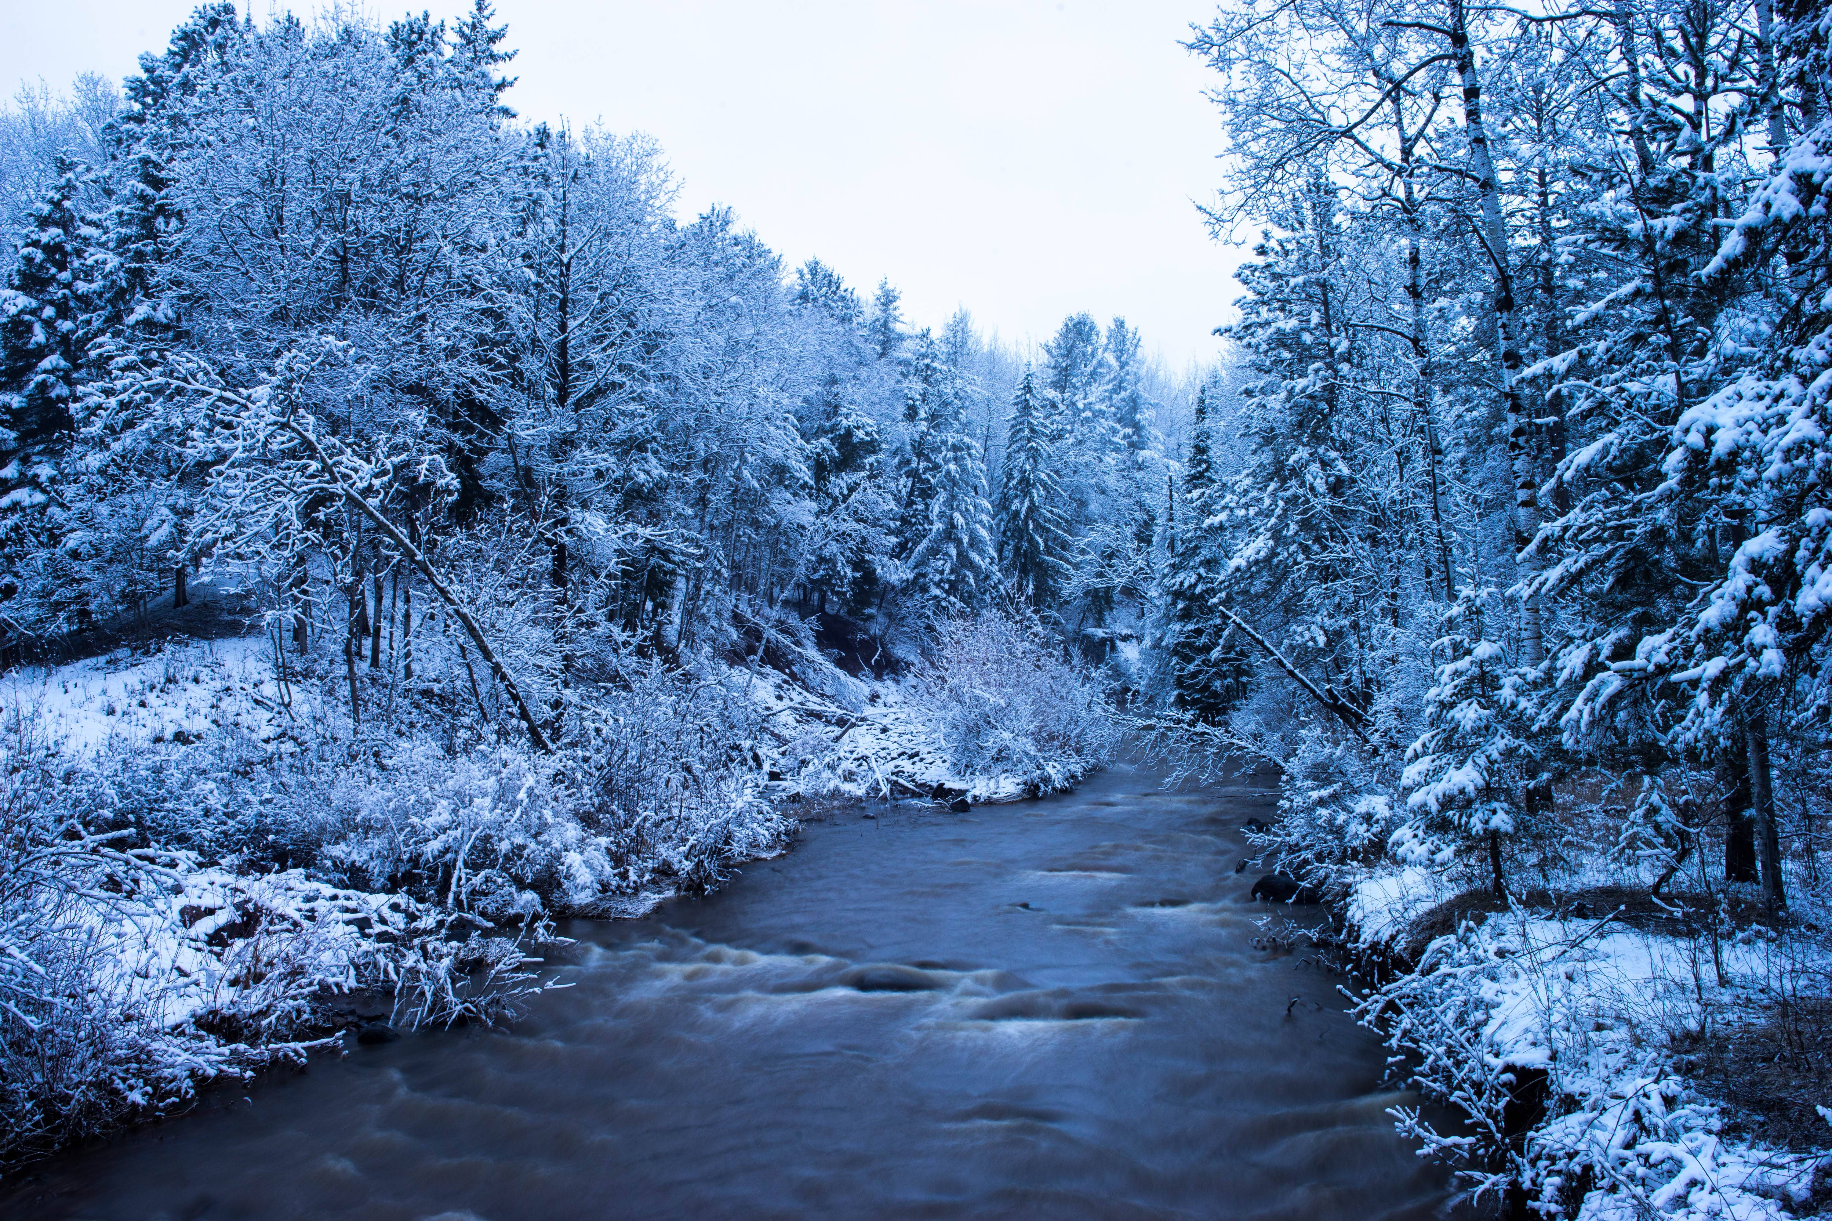
[[[1466,1120],[1398,1108],[1396,1126],[1469,1190],[1577,1221],[1773,1221],[1832,1199],[1812,888],[1779,928],[1619,879],[1502,902],[1387,868],[1343,890],[1372,983],[1358,1016]]]

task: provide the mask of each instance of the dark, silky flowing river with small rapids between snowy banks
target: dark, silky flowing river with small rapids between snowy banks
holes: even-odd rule
[[[572,926],[513,1032],[229,1091],[0,1216],[1431,1217],[1339,978],[1253,945],[1268,800],[1116,769],[834,813],[713,899]]]

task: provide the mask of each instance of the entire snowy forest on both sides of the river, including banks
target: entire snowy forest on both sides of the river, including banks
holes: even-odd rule
[[[1251,238],[1187,373],[678,218],[485,0],[22,90],[0,1159],[352,989],[506,1020],[821,804],[1145,756],[1277,771],[1277,935],[1478,1205],[1832,1197],[1832,15],[1191,16]]]

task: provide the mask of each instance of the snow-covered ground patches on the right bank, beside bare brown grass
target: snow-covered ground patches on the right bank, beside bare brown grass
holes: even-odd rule
[[[1383,957],[1449,897],[1425,870],[1370,871],[1348,893],[1352,943],[1363,959]],[[1797,967],[1832,967],[1823,950],[1806,954],[1814,961]],[[1722,1108],[1674,1053],[1674,1040],[1759,1016],[1773,1001],[1775,957],[1761,928],[1713,943],[1640,932],[1607,912],[1559,919],[1517,906],[1433,939],[1416,968],[1401,963],[1363,992],[1359,1012],[1469,1120],[1438,1131],[1396,1111],[1401,1131],[1473,1162],[1477,1186],[1524,1188],[1541,1216],[1579,1221],[1788,1217],[1828,1157],[1728,1137]],[[1519,1139],[1510,1100],[1519,1108],[1522,1089],[1537,1098],[1539,1082],[1544,1113]]]

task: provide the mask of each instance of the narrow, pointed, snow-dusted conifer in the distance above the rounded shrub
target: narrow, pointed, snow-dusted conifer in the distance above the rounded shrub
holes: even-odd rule
[[[1053,469],[1050,412],[1026,368],[1011,399],[1006,458],[998,480],[998,560],[1013,593],[1050,611],[1068,575],[1068,531]]]

